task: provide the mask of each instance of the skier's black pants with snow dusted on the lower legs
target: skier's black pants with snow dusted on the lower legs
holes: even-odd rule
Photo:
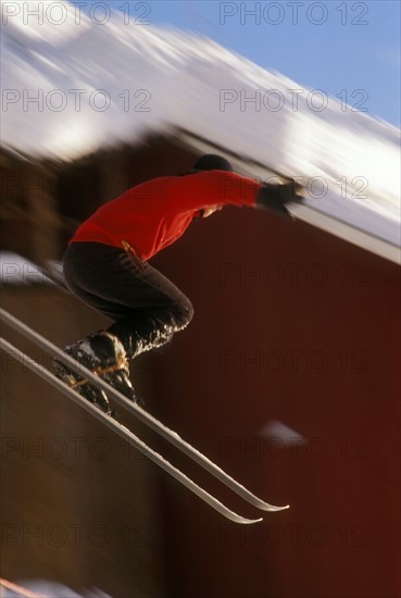
[[[67,287],[114,320],[108,332],[127,357],[168,342],[192,319],[189,299],[148,262],[99,242],[73,242],[63,258]]]

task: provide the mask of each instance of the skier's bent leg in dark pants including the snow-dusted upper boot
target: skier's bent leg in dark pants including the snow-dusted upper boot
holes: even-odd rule
[[[63,261],[65,281],[83,301],[115,322],[66,351],[134,398],[125,360],[168,342],[191,320],[190,301],[148,263],[100,244],[73,244]],[[115,364],[115,371],[111,371]]]

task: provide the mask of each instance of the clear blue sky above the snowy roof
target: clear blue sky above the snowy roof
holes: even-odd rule
[[[109,2],[110,3],[110,2]],[[88,0],[86,8],[100,4]],[[205,35],[311,89],[400,126],[398,0],[113,1],[129,22]],[[99,9],[100,15],[100,9]]]

